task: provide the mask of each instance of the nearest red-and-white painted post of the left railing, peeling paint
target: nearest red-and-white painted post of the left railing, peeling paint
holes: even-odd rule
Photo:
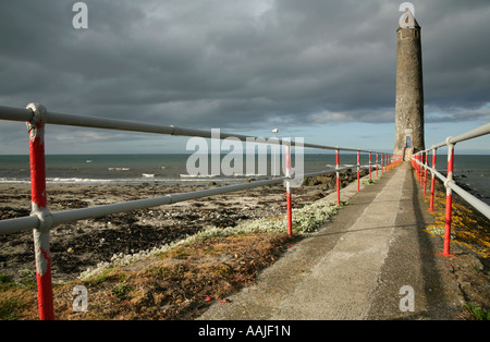
[[[49,230],[52,217],[47,209],[46,200],[46,164],[45,164],[45,123],[46,108],[29,103],[33,119],[27,122],[29,133],[30,162],[30,199],[32,213],[39,218],[39,227],[34,229],[34,252],[36,257],[36,278],[39,319],[54,319],[51,285],[51,254],[49,251]]]

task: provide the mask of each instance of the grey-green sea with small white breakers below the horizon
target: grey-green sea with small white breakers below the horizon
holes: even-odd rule
[[[204,175],[189,175],[186,162],[193,156],[185,154],[119,154],[119,155],[47,155],[46,178],[48,184],[94,184],[94,185],[138,185],[157,183],[163,185],[177,184],[206,184],[210,181],[217,183],[243,183],[245,179],[267,179],[273,175],[272,155],[255,156],[255,172],[246,172],[246,158],[242,156],[242,172],[233,175],[217,174],[211,172]],[[225,154],[221,154],[223,161]],[[262,157],[266,159],[261,159]],[[209,170],[211,156],[208,156]],[[380,159],[380,156],[378,157]],[[431,163],[431,158],[429,158]],[[266,161],[267,171],[259,172],[258,163]],[[371,161],[376,162],[376,155],[371,155]],[[335,156],[333,154],[304,154],[304,172],[316,172],[335,169]],[[367,164],[368,156],[362,154],[360,163]],[[445,173],[446,155],[437,156],[436,168]],[[280,159],[280,169],[283,170],[284,160]],[[341,152],[342,167],[357,164],[356,154]],[[295,164],[295,156],[292,156],[292,164]],[[279,167],[279,166],[278,166]],[[373,167],[375,168],[375,167]],[[375,169],[373,169],[375,170]],[[283,173],[283,172],[281,172]],[[490,156],[489,155],[456,155],[454,157],[454,175],[481,196],[481,199],[490,201]],[[26,184],[30,182],[28,155],[0,155],[0,184]]]

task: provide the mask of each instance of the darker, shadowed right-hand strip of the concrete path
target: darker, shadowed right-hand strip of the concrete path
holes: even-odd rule
[[[461,312],[462,293],[444,266],[448,259],[438,254],[439,241],[424,231],[431,222],[417,180],[408,171],[368,319],[454,319]],[[404,285],[414,289],[414,312],[401,310]]]

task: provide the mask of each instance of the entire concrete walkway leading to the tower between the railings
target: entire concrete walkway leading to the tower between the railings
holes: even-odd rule
[[[213,304],[199,319],[453,318],[463,296],[437,254],[438,241],[422,232],[431,218],[409,164],[359,193],[351,184],[341,199],[350,205],[323,229],[290,248],[255,286]],[[400,293],[405,285],[413,289],[412,302],[408,292]],[[401,310],[401,302],[414,310]]]

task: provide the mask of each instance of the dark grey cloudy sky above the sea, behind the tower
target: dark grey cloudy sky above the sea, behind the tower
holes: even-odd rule
[[[1,106],[392,148],[403,1],[87,0],[88,29],[72,26],[75,2],[0,3]],[[490,121],[490,3],[412,3],[430,145]],[[48,130],[48,152],[185,148],[170,137]],[[25,141],[21,123],[0,122],[0,154],[26,152]]]

